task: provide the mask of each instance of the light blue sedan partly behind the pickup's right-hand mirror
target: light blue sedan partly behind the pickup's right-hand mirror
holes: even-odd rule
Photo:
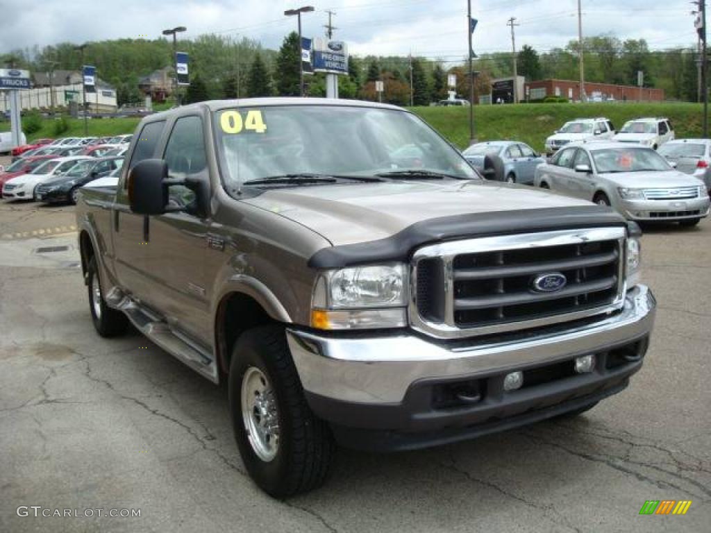
[[[464,150],[463,154],[466,161],[469,161],[485,178],[525,185],[533,184],[536,167],[545,163],[545,158],[537,154],[528,144],[516,141],[487,141],[472,144]]]

